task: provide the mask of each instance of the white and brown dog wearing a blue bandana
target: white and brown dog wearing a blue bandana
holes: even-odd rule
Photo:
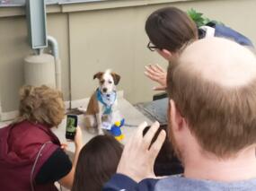
[[[97,128],[99,135],[102,129],[110,130],[114,123],[114,113],[117,109],[116,85],[119,83],[119,74],[112,73],[110,69],[104,73],[93,75],[93,79],[99,80],[99,87],[91,96],[85,112],[85,126],[88,130]]]

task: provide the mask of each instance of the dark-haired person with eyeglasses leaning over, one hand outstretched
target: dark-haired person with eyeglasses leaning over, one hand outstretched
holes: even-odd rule
[[[224,25],[209,22],[207,26],[198,28],[187,13],[176,7],[165,7],[151,13],[145,28],[150,40],[147,48],[171,63],[188,43],[206,37],[225,37],[243,46],[253,47],[250,39]],[[154,91],[165,91],[166,71],[160,65],[146,65],[145,74],[159,83],[153,88]]]

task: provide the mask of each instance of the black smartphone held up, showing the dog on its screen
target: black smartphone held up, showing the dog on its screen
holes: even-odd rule
[[[67,115],[66,116],[66,139],[75,139],[75,130],[77,126],[77,116]]]

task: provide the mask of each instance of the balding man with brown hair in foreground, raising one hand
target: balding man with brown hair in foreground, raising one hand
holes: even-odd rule
[[[169,66],[169,135],[181,176],[155,179],[162,131],[146,124],[125,146],[105,190],[256,190],[256,58],[228,39],[193,42]]]

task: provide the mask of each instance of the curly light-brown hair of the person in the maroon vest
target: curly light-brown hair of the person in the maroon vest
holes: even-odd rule
[[[14,124],[28,120],[49,127],[58,126],[65,116],[65,106],[61,91],[46,85],[23,86],[20,90],[19,117]]]

